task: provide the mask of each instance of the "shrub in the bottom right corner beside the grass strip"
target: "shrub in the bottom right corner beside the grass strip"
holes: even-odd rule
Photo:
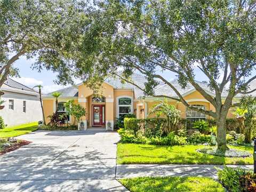
[[[225,166],[223,170],[218,171],[218,178],[228,191],[256,191],[256,174],[251,171]]]

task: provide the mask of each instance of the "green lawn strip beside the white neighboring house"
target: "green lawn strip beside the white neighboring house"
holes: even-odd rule
[[[38,129],[38,123],[28,123],[12,127],[6,127],[0,130],[0,138],[16,137],[22,134],[27,134]]]

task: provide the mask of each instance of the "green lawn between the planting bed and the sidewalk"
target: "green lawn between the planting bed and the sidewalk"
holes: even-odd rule
[[[230,158],[198,153],[196,149],[205,146],[156,146],[124,144],[117,145],[118,164],[253,164],[253,157]],[[253,154],[253,147],[234,147],[239,150],[247,150]]]

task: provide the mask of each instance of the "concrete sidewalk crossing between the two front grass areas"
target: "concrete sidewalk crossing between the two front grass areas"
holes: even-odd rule
[[[228,166],[242,167],[246,170],[253,169],[253,165]],[[165,176],[211,177],[218,179],[216,167],[223,169],[223,165],[117,165],[116,179]]]

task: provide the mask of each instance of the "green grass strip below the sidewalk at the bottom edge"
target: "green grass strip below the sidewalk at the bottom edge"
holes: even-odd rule
[[[199,177],[143,177],[119,180],[131,192],[225,192],[220,183]]]

